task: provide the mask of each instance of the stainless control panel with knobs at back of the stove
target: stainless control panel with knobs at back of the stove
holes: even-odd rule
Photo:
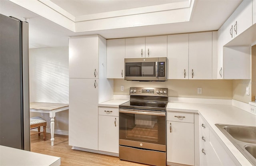
[[[168,97],[168,88],[130,87],[130,95]]]

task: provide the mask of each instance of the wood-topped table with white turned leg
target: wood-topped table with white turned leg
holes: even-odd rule
[[[30,111],[38,113],[49,113],[51,119],[51,142],[52,146],[54,145],[54,117],[55,113],[60,111],[68,110],[68,104],[61,103],[41,103],[41,102],[32,102],[30,103]]]

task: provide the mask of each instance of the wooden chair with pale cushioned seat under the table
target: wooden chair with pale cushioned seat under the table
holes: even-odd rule
[[[36,133],[30,133],[30,135],[38,134],[40,136],[40,127],[43,126],[43,133],[44,133],[44,141],[46,140],[46,120],[44,120],[41,117],[32,117],[30,118],[30,130],[37,128],[38,132]]]

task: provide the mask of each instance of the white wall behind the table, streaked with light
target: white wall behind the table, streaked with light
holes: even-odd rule
[[[68,47],[29,49],[30,102],[68,103]],[[32,113],[46,119],[49,114]],[[56,113],[55,130],[68,132],[68,111]]]

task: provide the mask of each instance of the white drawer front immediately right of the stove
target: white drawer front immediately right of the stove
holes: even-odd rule
[[[194,123],[194,113],[167,111],[167,121]]]

